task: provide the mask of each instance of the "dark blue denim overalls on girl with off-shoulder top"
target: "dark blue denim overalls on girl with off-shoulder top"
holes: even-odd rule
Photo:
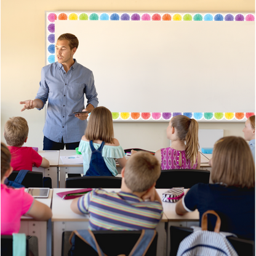
[[[92,140],[90,140],[89,143],[90,149],[92,150],[92,156],[90,158],[89,169],[85,176],[113,176],[102,157],[102,150],[105,142],[102,142],[102,145],[100,145],[98,150],[94,148]]]

